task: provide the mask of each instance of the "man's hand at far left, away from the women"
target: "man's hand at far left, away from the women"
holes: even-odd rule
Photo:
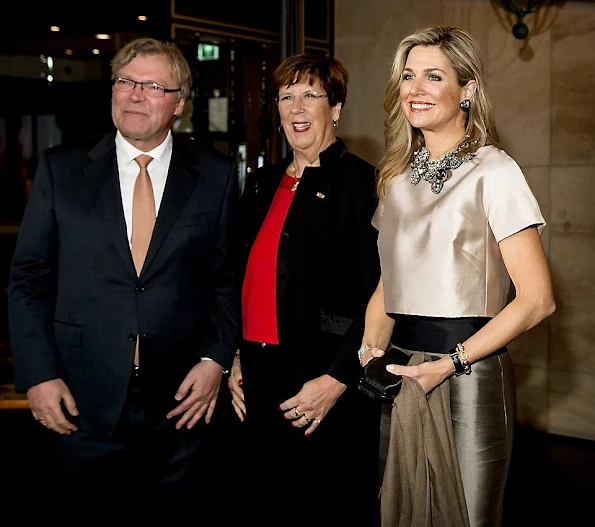
[[[36,421],[58,434],[70,435],[78,428],[62,411],[61,403],[72,416],[78,415],[74,397],[62,379],[52,379],[31,386],[27,390],[29,408]]]

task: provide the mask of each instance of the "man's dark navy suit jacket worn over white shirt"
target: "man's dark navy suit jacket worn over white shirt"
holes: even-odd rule
[[[39,164],[9,283],[16,387],[61,377],[82,430],[111,433],[136,335],[148,409],[163,417],[201,356],[230,367],[238,301],[228,241],[237,176],[225,156],[174,136],[149,251],[137,277],[126,235],[115,134],[58,146]]]

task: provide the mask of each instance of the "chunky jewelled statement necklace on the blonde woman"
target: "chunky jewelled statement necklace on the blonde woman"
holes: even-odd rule
[[[476,152],[467,152],[459,155],[459,152],[466,150],[471,146],[477,144],[479,139],[475,141],[465,141],[461,143],[452,152],[448,152],[442,159],[430,161],[430,151],[422,146],[419,150],[413,152],[413,161],[411,161],[411,168],[413,173],[409,180],[412,185],[417,185],[422,179],[430,184],[430,189],[434,194],[438,194],[444,183],[452,176],[452,171],[459,168],[463,163],[473,159]]]

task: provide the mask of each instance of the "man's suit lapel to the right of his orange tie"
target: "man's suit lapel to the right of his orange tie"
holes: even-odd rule
[[[155,259],[165,238],[196,186],[198,172],[195,165],[196,158],[191,156],[191,153],[174,139],[163,198],[141,275],[146,272],[151,262]]]

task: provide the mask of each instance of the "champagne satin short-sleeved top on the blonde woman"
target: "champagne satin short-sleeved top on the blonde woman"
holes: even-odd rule
[[[442,191],[412,185],[411,169],[392,179],[372,224],[387,313],[435,317],[497,315],[510,277],[498,243],[525,227],[545,227],[520,167],[484,146],[452,171]]]

